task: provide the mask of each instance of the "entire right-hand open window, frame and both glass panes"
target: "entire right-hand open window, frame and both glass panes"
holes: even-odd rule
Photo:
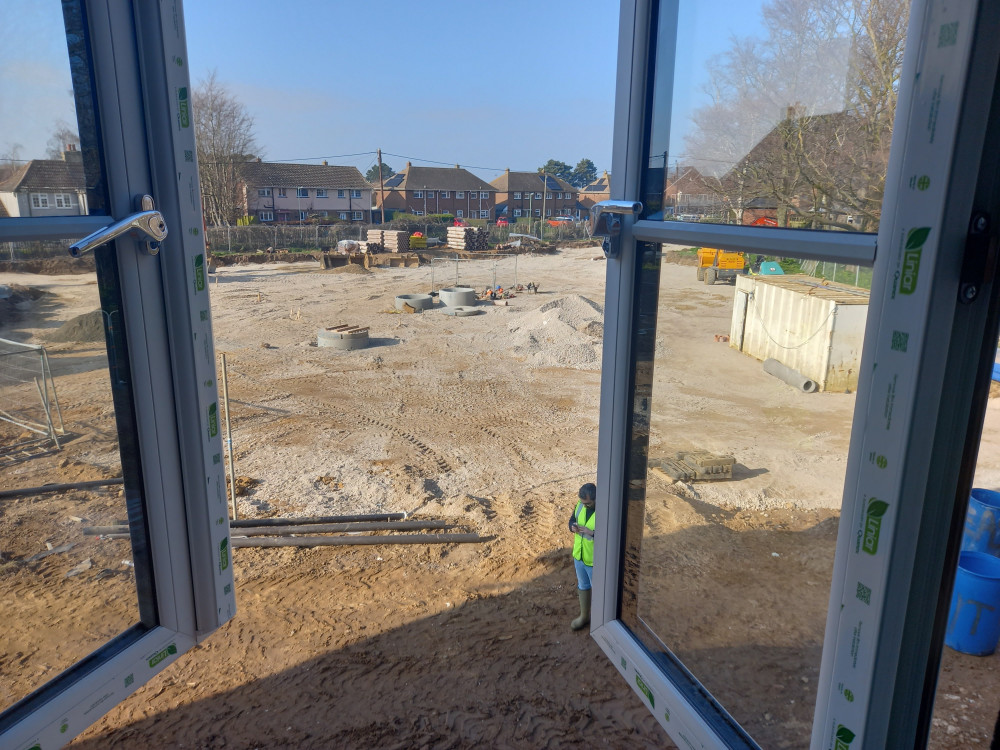
[[[995,9],[806,5],[622,4],[593,636],[681,747],[926,742],[996,351]]]

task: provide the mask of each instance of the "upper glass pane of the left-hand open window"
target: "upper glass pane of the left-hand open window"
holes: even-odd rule
[[[79,2],[4,5],[0,219],[107,213],[90,80]]]

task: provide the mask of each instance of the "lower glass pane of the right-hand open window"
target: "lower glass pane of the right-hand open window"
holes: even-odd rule
[[[622,617],[808,747],[870,269],[638,247]]]

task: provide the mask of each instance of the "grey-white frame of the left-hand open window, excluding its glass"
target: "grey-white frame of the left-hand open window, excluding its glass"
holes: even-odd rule
[[[195,150],[191,82],[175,63],[188,57],[173,11],[137,3],[122,12],[111,0],[83,5],[109,211],[126,217],[136,196],[152,195],[169,230],[156,256],[128,235],[101,250],[117,263],[128,320],[122,335],[142,467],[134,501],[148,527],[156,622],[81,654],[85,660],[3,707],[2,747],[62,746],[235,614],[198,174],[184,159]],[[74,32],[82,38],[82,29]],[[0,241],[76,240],[109,222],[0,219]]]

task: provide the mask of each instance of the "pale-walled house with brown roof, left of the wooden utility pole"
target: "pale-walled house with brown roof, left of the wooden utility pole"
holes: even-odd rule
[[[243,167],[245,212],[260,223],[371,222],[372,186],[357,167],[255,161]]]

